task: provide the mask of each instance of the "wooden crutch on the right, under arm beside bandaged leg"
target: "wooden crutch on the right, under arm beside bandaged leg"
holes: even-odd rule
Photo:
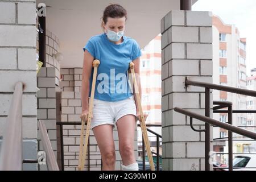
[[[136,77],[135,77],[133,62],[130,63],[130,70],[131,70],[131,76],[133,79],[136,100],[137,100],[138,106],[139,106],[139,114],[141,115],[141,121],[139,121],[139,123],[141,124],[141,131],[142,131],[143,140],[144,140],[144,143],[146,146],[148,160],[150,162],[150,169],[151,169],[151,171],[155,171],[155,165],[154,165],[152,153],[150,150],[150,142],[148,140],[147,127],[146,127],[145,118],[144,118],[144,114],[143,114],[143,110],[142,110],[142,106],[141,106],[141,98],[139,97],[139,89],[138,89],[138,85],[137,85],[137,81],[136,81]]]

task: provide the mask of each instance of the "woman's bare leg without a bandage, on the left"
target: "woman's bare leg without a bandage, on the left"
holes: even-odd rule
[[[101,152],[102,171],[113,171],[115,169],[113,125],[98,125],[93,127],[92,130]]]

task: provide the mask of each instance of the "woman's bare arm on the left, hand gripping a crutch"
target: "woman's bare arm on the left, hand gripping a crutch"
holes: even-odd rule
[[[90,76],[92,73],[92,64],[94,57],[85,49],[84,51],[84,63],[82,67],[82,83],[81,83],[81,102],[82,102],[82,113],[81,119],[87,121],[87,114],[89,110],[89,87],[90,87]]]

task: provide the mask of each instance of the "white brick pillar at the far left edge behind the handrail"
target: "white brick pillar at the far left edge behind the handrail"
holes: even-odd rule
[[[15,84],[21,81],[23,159],[37,158],[35,8],[35,0],[0,0],[0,140]],[[23,169],[36,170],[36,164],[23,164]]]

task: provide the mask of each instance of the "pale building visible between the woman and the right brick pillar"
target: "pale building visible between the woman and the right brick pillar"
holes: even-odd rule
[[[152,39],[145,47],[142,48],[140,63],[140,78],[142,87],[142,109],[148,114],[147,124],[159,125],[148,127],[162,135],[161,130],[161,34]],[[138,128],[139,150],[142,147],[141,128]],[[150,135],[152,150],[156,152],[156,137]],[[140,150],[141,151],[141,150]],[[162,149],[160,148],[160,154]]]

